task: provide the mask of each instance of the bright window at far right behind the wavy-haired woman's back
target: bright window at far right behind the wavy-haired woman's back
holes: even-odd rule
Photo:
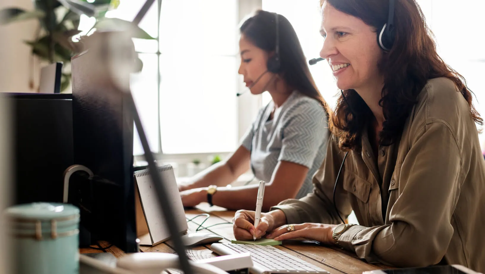
[[[485,117],[485,1],[418,0],[426,22],[435,34],[438,54],[467,81],[474,92],[473,103]],[[482,144],[485,135],[480,134]],[[482,145],[484,148],[484,145]]]

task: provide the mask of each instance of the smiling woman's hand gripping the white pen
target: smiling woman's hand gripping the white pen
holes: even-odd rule
[[[274,210],[268,213],[261,213],[258,227],[254,227],[255,214],[255,211],[249,210],[238,210],[236,212],[232,219],[236,240],[253,240],[253,235],[256,236],[256,239],[260,239],[266,232],[273,231],[273,229],[286,222],[286,216],[283,211]]]

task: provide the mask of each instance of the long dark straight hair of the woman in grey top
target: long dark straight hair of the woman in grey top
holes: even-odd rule
[[[320,102],[326,111],[326,102],[311,77],[298,36],[290,21],[280,14],[278,14],[278,29],[280,77],[292,88]],[[241,24],[239,30],[256,47],[269,53],[275,52],[275,13],[258,10]]]

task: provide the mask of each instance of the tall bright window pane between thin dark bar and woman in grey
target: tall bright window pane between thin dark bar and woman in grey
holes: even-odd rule
[[[238,144],[238,2],[163,0],[160,125],[164,154]]]

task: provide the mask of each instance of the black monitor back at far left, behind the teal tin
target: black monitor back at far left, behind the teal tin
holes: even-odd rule
[[[15,204],[62,202],[74,164],[71,94],[3,94],[13,106]]]

